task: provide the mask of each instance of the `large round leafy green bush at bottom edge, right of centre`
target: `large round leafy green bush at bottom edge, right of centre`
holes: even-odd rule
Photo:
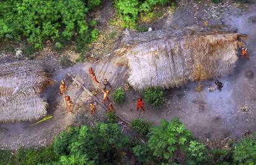
[[[161,120],[158,127],[152,127],[148,133],[148,146],[153,155],[163,158],[166,163],[173,163],[179,153],[187,153],[192,134],[185,128],[179,119],[168,122]]]

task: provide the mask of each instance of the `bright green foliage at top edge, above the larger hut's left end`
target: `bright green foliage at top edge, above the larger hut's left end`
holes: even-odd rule
[[[148,13],[153,7],[171,4],[169,0],[115,0],[117,14],[122,20],[121,27],[135,28],[140,12]]]

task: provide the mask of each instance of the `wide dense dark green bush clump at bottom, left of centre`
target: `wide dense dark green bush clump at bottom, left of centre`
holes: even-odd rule
[[[86,156],[92,164],[114,164],[129,145],[117,124],[96,124],[95,129],[87,126],[71,127],[62,132],[54,143],[54,151],[59,156]]]

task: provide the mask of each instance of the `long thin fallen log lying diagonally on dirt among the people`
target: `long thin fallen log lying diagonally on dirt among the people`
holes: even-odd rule
[[[100,106],[101,106],[103,109],[105,109],[106,112],[108,112],[108,108],[105,106],[105,104],[103,104],[98,98],[96,98],[96,96],[93,95],[92,92],[91,92],[90,90],[88,90],[88,89],[83,85],[83,83],[81,83],[79,80],[77,80],[74,75],[71,75],[71,74],[67,74],[67,75],[68,75],[70,78],[72,78],[72,80],[73,80],[75,83],[77,83],[81,88],[83,88],[83,90],[87,91],[87,93],[88,93],[93,99],[95,99],[95,101],[97,101],[98,104],[100,104]],[[116,116],[117,116],[121,121],[125,122],[126,124],[128,124],[128,125],[130,126],[130,122],[126,121],[124,118],[122,118],[121,116],[118,116],[117,114],[116,114]]]

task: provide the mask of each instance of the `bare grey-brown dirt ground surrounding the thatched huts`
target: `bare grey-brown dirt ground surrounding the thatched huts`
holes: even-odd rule
[[[109,9],[111,10],[111,6],[108,6]],[[187,83],[180,88],[166,91],[166,104],[161,108],[155,109],[146,104],[147,111],[145,114],[142,113],[141,118],[155,121],[157,124],[161,119],[170,121],[173,117],[179,117],[186,127],[192,130],[194,135],[202,141],[220,136],[239,138],[246,130],[254,132],[256,130],[256,80],[253,75],[256,71],[255,9],[256,4],[250,4],[247,9],[243,10],[230,1],[218,5],[184,1],[180,2],[179,9],[174,14],[155,22],[152,27],[158,29],[186,27],[194,24],[202,26],[224,24],[237,28],[237,32],[245,33],[249,36],[247,46],[250,60],[239,60],[233,75],[219,78],[224,83],[223,90],[208,91],[208,86],[213,85],[213,81],[207,80],[203,82],[204,90],[198,93],[195,92],[197,83]],[[106,9],[102,10],[105,11],[104,13],[108,11]],[[99,20],[102,20],[102,17],[101,15]],[[106,22],[103,22],[103,24],[105,25]],[[116,42],[118,42],[118,39]],[[118,46],[118,43],[114,46]],[[118,87],[124,87],[124,83],[127,82],[129,76],[128,70],[126,67],[114,66],[111,53],[109,51],[109,54],[103,56],[104,58],[101,58],[98,63],[85,62],[67,69],[51,70],[56,84],[49,87],[43,93],[43,96],[48,99],[49,114],[54,116],[53,119],[33,126],[34,122],[0,124],[0,148],[15,150],[24,146],[38,147],[47,145],[53,141],[54,136],[58,135],[68,125],[93,124],[96,119],[97,121],[105,120],[105,111],[100,106],[97,107],[95,119],[92,119],[88,103],[93,100],[80,88],[75,87],[75,84],[70,82],[66,74],[72,73],[79,76],[83,80],[85,87],[93,90],[96,85],[92,83],[87,74],[88,67],[92,66],[99,80],[102,81],[104,78],[108,78],[113,85],[113,90]],[[54,62],[47,61],[46,63],[48,63],[49,68],[56,66]],[[65,111],[65,107],[62,96],[58,95],[59,81],[64,78],[66,78],[69,87],[67,93],[74,101],[74,112],[71,115],[62,113]],[[139,95],[141,93],[134,90],[126,91],[125,104],[121,106],[114,104],[117,114],[127,119],[127,121],[137,118],[139,112],[135,108]],[[97,97],[101,99],[102,94],[99,93]],[[241,110],[242,107],[246,107],[244,111]],[[241,111],[239,111],[239,108]]]

